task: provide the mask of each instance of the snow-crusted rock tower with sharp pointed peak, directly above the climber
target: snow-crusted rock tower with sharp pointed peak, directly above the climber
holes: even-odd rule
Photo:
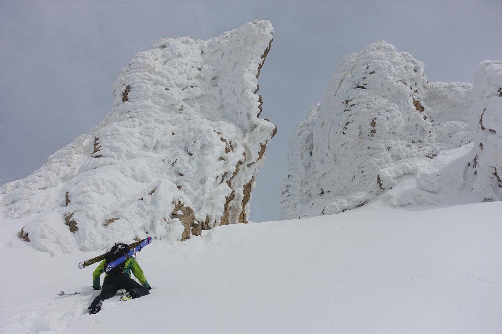
[[[269,21],[254,21],[138,53],[104,121],[0,189],[4,223],[22,220],[19,235],[52,254],[246,223],[277,132],[260,118],[258,95],[272,33]]]

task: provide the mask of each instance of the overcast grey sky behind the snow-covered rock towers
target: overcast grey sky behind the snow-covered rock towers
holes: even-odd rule
[[[250,219],[279,220],[289,139],[336,64],[384,39],[425,63],[429,81],[472,82],[502,59],[501,2],[0,3],[0,184],[40,168],[103,120],[111,85],[160,38],[210,39],[255,19],[275,29],[260,76],[267,147]]]

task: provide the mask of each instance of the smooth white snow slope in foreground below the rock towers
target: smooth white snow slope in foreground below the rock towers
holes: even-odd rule
[[[98,252],[51,257],[3,226],[2,332],[500,333],[501,203],[236,224],[138,255],[152,293],[96,315]],[[59,297],[57,293],[81,292]]]

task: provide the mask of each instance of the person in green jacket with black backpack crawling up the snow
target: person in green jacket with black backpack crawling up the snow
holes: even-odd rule
[[[92,288],[94,290],[101,289],[99,277],[104,273],[107,264],[120,256],[127,254],[129,251],[130,248],[127,244],[115,244],[111,248],[111,250],[106,254],[106,259],[104,259],[92,273]],[[131,278],[131,271],[135,277],[138,278],[141,284]],[[99,312],[101,310],[103,300],[113,297],[113,295],[120,289],[127,291],[126,294],[123,294],[120,297],[120,300],[139,298],[149,294],[150,292],[148,292],[148,290],[152,289],[148,284],[138,261],[136,261],[134,257],[130,257],[105,274],[103,289],[88,307],[89,314]]]

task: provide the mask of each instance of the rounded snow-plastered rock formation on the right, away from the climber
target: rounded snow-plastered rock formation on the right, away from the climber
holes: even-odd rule
[[[383,40],[345,57],[291,139],[282,219],[502,199],[502,63],[474,84],[429,83]]]

